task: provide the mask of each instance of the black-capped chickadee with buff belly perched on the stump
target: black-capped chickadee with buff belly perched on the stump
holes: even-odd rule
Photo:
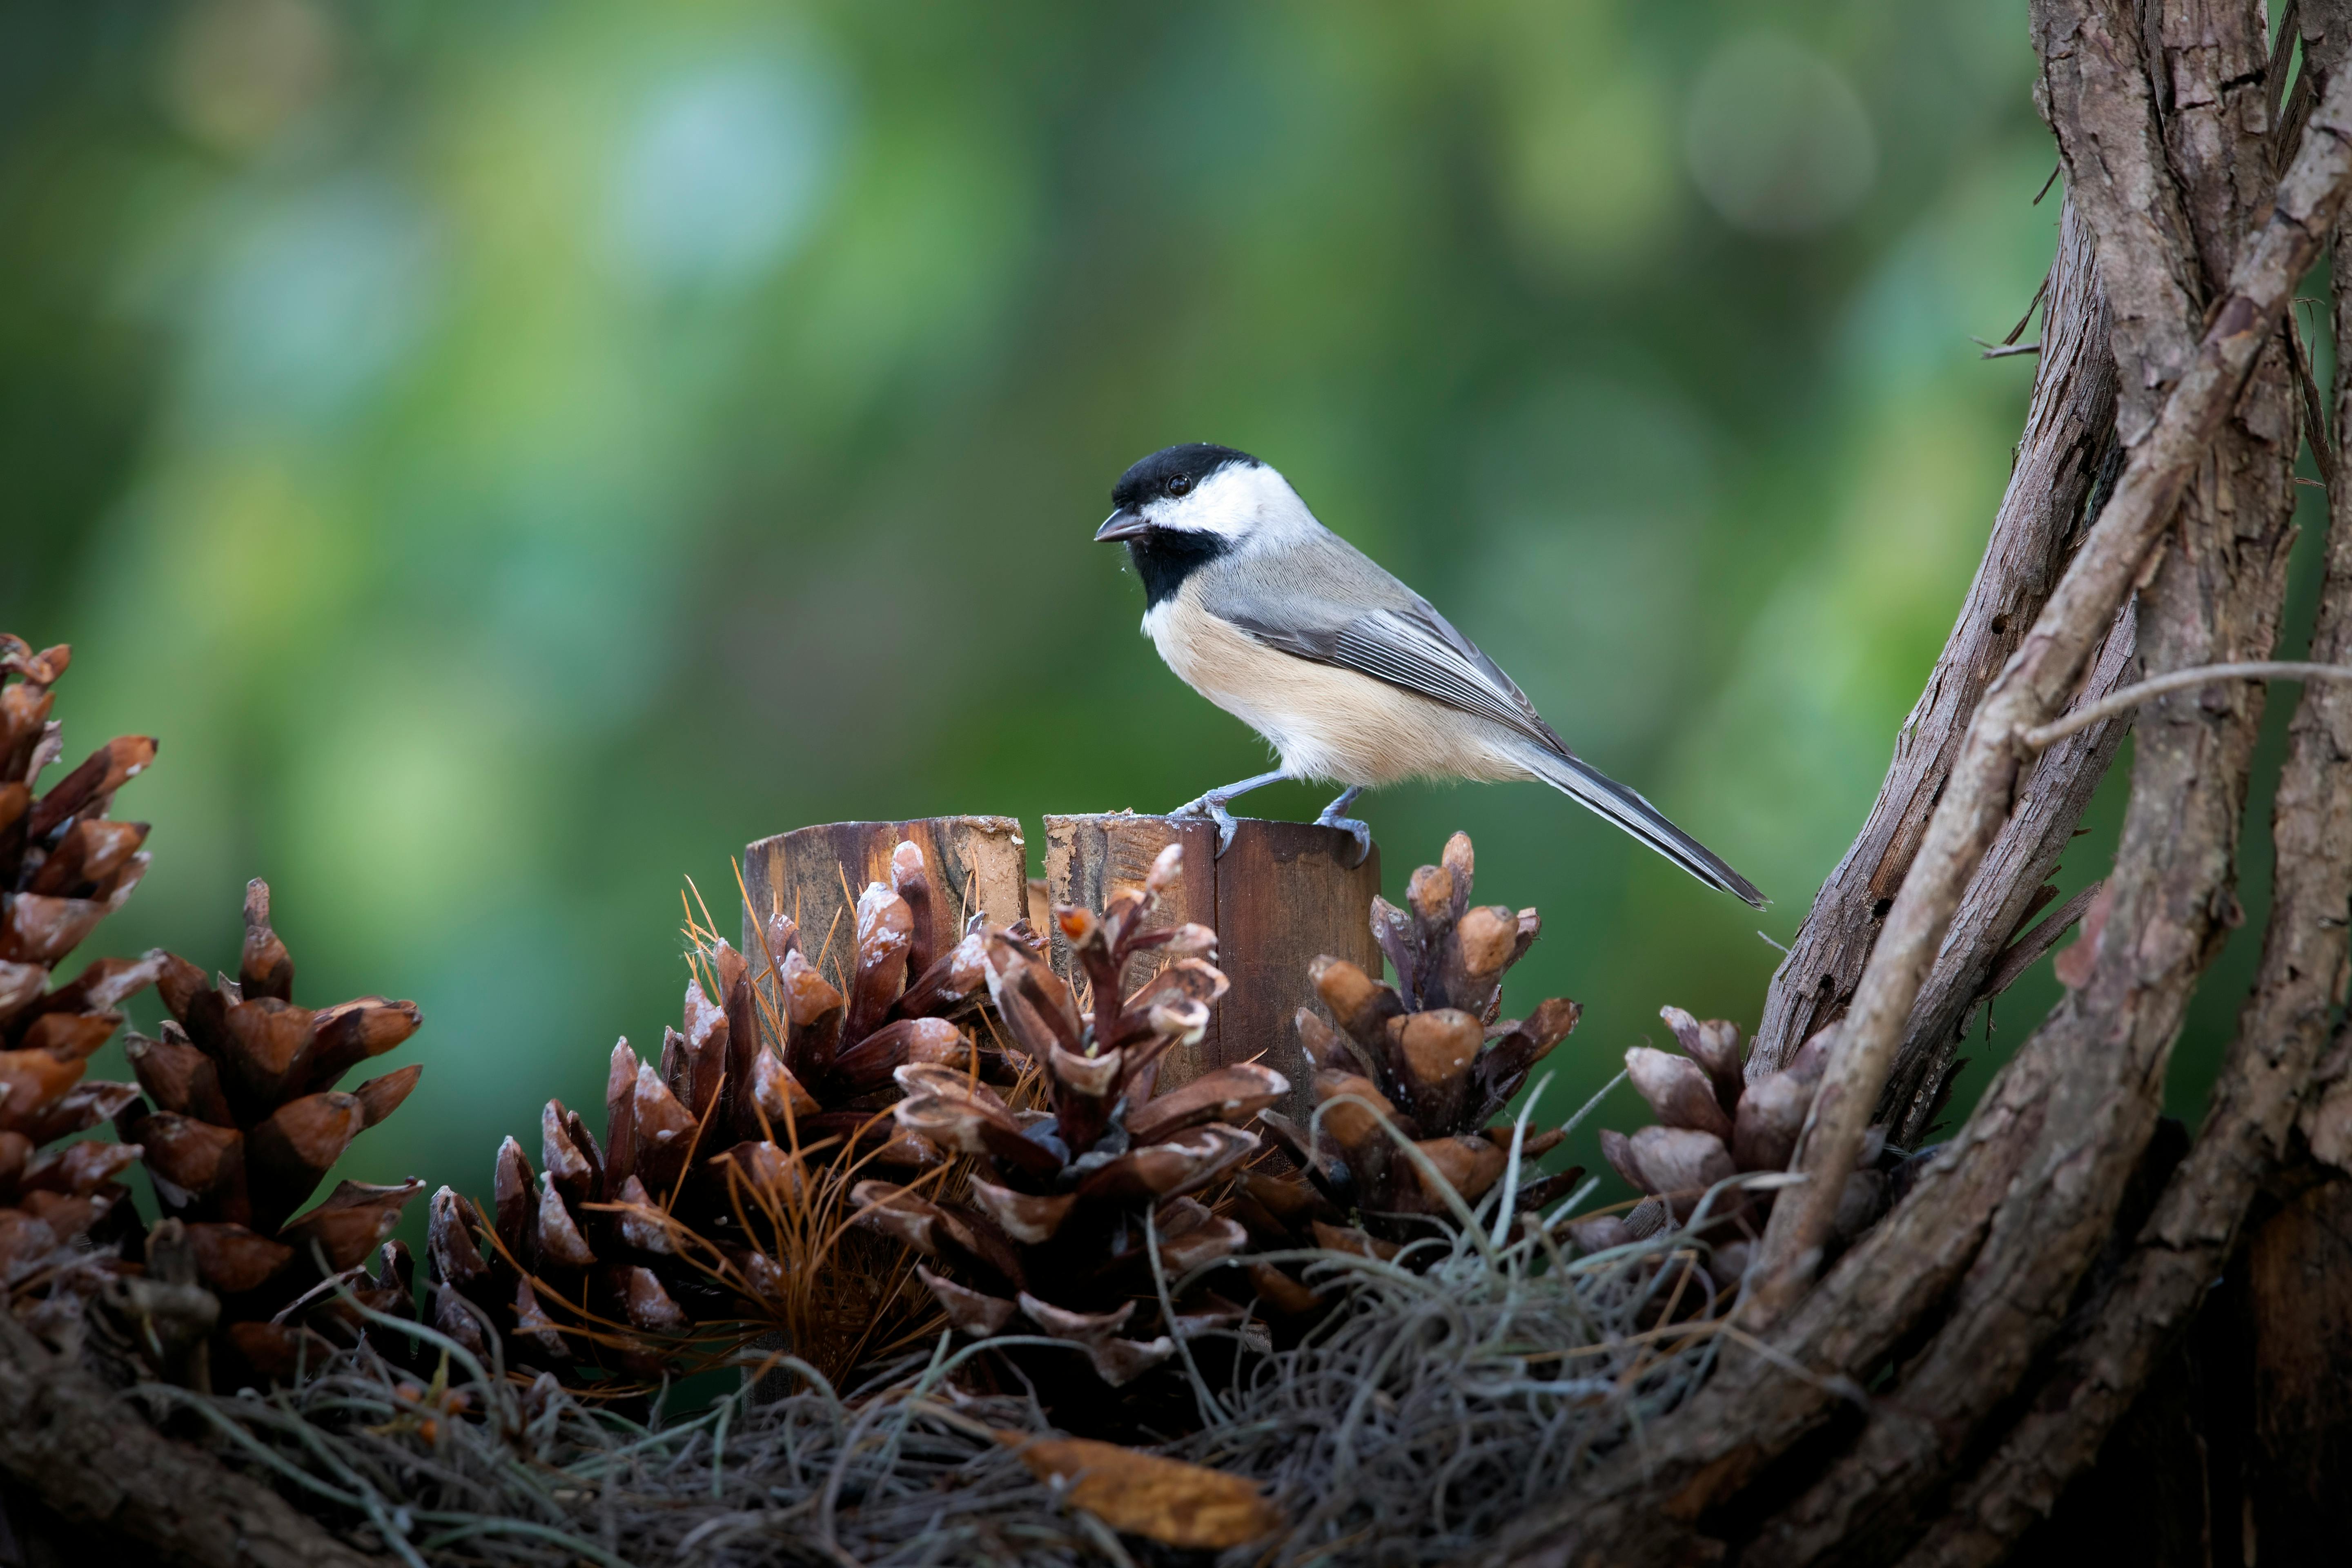
[[[1232,842],[1225,802],[1303,778],[1345,785],[1315,818],[1343,816],[1404,778],[1541,778],[1710,886],[1764,896],[1646,799],[1576,757],[1526,693],[1418,592],[1331,529],[1279,473],[1195,442],[1143,458],[1110,491],[1094,538],[1124,541],[1143,578],[1143,630],[1188,686],[1256,729],[1282,766],[1209,790],[1174,816],[1207,816]]]

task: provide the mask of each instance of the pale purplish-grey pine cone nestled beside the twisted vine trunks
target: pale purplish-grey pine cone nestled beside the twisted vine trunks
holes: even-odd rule
[[[1738,1025],[1722,1018],[1700,1023],[1679,1006],[1658,1009],[1658,1016],[1682,1044],[1682,1056],[1651,1046],[1625,1053],[1625,1077],[1658,1121],[1630,1138],[1602,1131],[1602,1154],[1646,1197],[1625,1215],[1571,1225],[1571,1237],[1588,1253],[1653,1237],[1668,1220],[1691,1220],[1708,1190],[1733,1175],[1785,1171],[1835,1039],[1823,1030],[1785,1067],[1750,1079],[1740,1065]],[[1839,1239],[1851,1241],[1886,1211],[1886,1131],[1870,1128],[1860,1168],[1846,1178],[1837,1204]],[[1719,1286],[1738,1286],[1771,1204],[1771,1192],[1724,1192],[1708,1206],[1700,1232],[1712,1241],[1708,1272]]]

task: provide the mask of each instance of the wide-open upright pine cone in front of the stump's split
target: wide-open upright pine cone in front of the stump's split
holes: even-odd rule
[[[990,1338],[1028,1319],[1021,1333],[1084,1349],[1115,1387],[1176,1354],[1176,1335],[1242,1321],[1240,1307],[1200,1288],[1176,1300],[1169,1321],[1162,1286],[1174,1291],[1247,1244],[1192,1194],[1258,1150],[1240,1124],[1289,1091],[1279,1072],[1242,1063],[1152,1093],[1160,1058],[1197,1044],[1225,994],[1225,976],[1207,961],[1216,947],[1207,926],[1148,924],[1181,856],[1164,849],[1143,889],[1117,893],[1101,914],[1054,910],[1091,987],[1087,1011],[1035,947],[990,933],[988,994],[1049,1110],[1016,1112],[953,1067],[896,1070],[908,1095],[898,1128],[971,1154],[969,1197],[934,1201],[894,1182],[858,1182],[851,1194],[868,1225],[938,1265],[917,1276],[960,1331]],[[1176,961],[1122,997],[1120,976],[1148,950]]]

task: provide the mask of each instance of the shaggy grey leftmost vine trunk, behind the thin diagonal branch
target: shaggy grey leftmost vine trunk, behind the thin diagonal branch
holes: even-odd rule
[[[2086,503],[2114,458],[2114,355],[2107,350],[2107,296],[2098,284],[2091,228],[2072,200],[2060,209],[2058,254],[2042,289],[2049,301],[2042,317],[2042,362],[2034,369],[2034,395],[2025,414],[2025,435],[2018,437],[2009,489],[1985,541],[1985,559],[1976,569],[1969,599],[1936,670],[1926,677],[1919,703],[1896,733],[1896,755],[1870,806],[1870,820],[1820,884],[1813,910],[1771,978],[1764,1018],[1748,1051],[1750,1074],[1778,1072],[1797,1046],[1844,1013],[1889,900],[1910,872],[1929,813],[1959,757],[1969,715],[2025,642],[2025,630],[2042,614],[2058,574],[2089,529]],[[2124,651],[2129,654],[2129,644]],[[2112,743],[2100,748],[2093,738],[2091,745],[2046,757],[2034,769],[2027,790],[2072,806],[2046,813],[2046,832],[2058,849],[2074,832],[2082,804],[2089,802],[2089,788],[2070,785],[2086,773],[2096,785],[2112,752]],[[2039,842],[2027,844],[2037,846]],[[2039,882],[2027,882],[2025,896],[2034,886]],[[1955,922],[1962,940],[1945,947],[1936,973],[1938,980],[1952,978],[1952,990],[1966,994],[1957,999],[1957,1009],[1945,1011],[1966,1011],[1976,997],[1973,983],[1985,978],[1999,947],[2023,919],[2023,910],[2009,910],[2011,900],[1990,903],[1983,919]],[[2002,917],[2009,924],[2002,924]],[[1905,1048],[1905,1060],[1929,1053],[1931,1041],[1922,1041],[1917,1053]]]

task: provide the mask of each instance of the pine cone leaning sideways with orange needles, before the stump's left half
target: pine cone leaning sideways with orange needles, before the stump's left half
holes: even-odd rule
[[[828,1241],[837,1225],[821,1208],[840,1197],[828,1171],[946,1164],[891,1124],[903,1063],[1007,1072],[955,1023],[981,1006],[981,936],[927,952],[929,900],[922,851],[898,844],[891,886],[858,898],[847,994],[786,917],[769,922],[771,964],[757,976],[724,938],[699,933],[717,1001],[701,976],[687,980],[684,1027],[663,1032],[659,1070],[626,1039],[614,1046],[602,1145],[548,1100],[543,1171],[508,1138],[494,1220],[449,1187],[433,1194],[442,1333],[480,1347],[487,1321],[524,1363],[628,1375],[656,1375],[717,1326],[734,1338],[783,1326],[804,1361],[863,1342],[891,1286]]]

